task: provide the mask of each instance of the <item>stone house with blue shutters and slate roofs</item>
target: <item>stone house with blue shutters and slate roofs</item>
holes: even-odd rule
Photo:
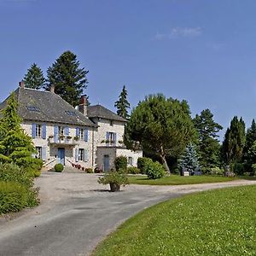
[[[126,120],[101,105],[88,107],[85,96],[78,108],[73,108],[53,87],[50,91],[32,90],[23,82],[15,96],[21,126],[32,137],[36,157],[44,161],[46,169],[61,163],[108,171],[119,155],[125,155],[130,166],[137,166],[137,158],[143,155],[123,145]]]

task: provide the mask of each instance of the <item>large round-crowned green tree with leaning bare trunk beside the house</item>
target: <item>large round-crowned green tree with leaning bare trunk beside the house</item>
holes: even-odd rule
[[[132,110],[125,137],[128,147],[141,146],[144,152],[158,155],[170,172],[166,156],[179,156],[195,137],[188,103],[161,94],[147,96]]]

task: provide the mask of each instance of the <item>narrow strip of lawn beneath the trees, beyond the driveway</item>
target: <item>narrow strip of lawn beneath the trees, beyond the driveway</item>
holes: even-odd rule
[[[179,176],[171,175],[158,179],[148,179],[147,176],[130,176],[129,182],[133,184],[143,185],[183,185],[196,183],[220,183],[238,179],[238,177],[222,177],[222,176]]]

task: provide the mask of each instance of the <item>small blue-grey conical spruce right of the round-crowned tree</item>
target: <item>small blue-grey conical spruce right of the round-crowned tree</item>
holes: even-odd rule
[[[200,166],[198,154],[195,150],[195,145],[189,143],[178,162],[182,169],[186,168],[189,171],[195,171],[195,168]]]

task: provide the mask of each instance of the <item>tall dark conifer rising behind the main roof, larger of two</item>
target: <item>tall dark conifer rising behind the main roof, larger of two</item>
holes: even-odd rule
[[[86,74],[88,71],[80,68],[77,56],[71,51],[65,51],[47,70],[47,84],[49,90],[55,86],[55,93],[61,96],[73,107],[79,105],[79,97],[83,94],[88,84]]]

